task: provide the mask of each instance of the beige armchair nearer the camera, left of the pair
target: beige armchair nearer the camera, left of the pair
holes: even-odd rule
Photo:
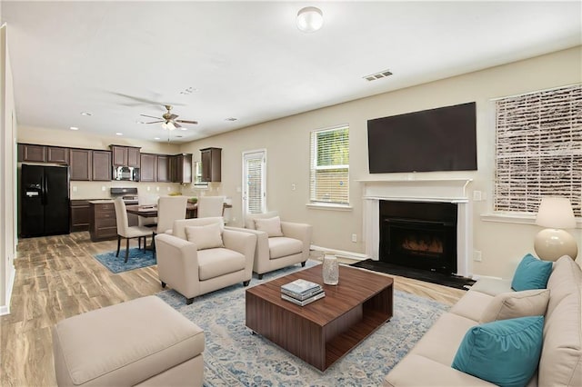
[[[186,296],[214,292],[253,276],[256,236],[226,230],[222,217],[174,222],[172,234],[156,235],[157,271],[162,287]]]

